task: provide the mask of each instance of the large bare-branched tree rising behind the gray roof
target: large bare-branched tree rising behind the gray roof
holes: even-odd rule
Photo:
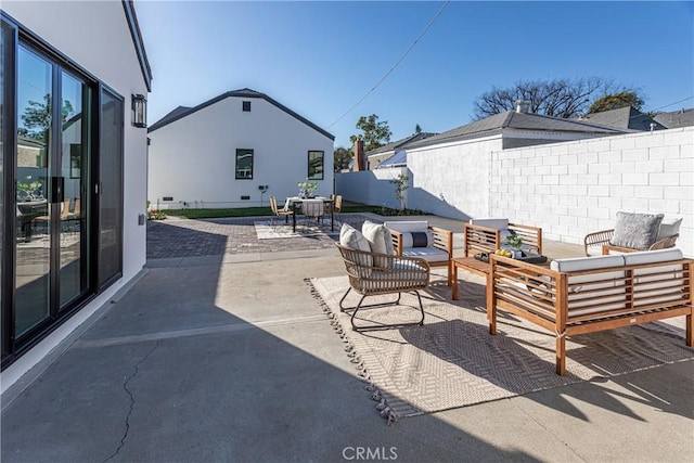
[[[475,120],[514,110],[517,100],[527,101],[529,112],[544,116],[574,118],[586,114],[590,103],[606,94],[637,92],[617,86],[611,79],[581,77],[577,79],[520,80],[511,88],[492,87],[473,102]]]

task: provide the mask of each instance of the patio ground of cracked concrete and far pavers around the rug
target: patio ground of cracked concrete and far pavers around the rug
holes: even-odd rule
[[[3,396],[2,461],[679,462],[693,453],[692,361],[387,426],[304,281],[344,274],[332,240],[241,246],[250,230],[247,220],[151,224],[147,268],[132,288]],[[552,256],[577,252],[545,246]]]

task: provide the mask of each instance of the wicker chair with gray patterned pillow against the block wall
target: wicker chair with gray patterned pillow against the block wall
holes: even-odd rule
[[[592,232],[583,237],[586,256],[674,247],[681,223],[681,217],[618,211],[615,228]]]

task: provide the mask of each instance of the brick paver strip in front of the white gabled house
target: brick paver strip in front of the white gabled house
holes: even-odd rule
[[[357,229],[361,229],[365,219],[359,214],[342,215],[343,222]],[[147,222],[147,259],[326,249],[337,241],[337,235],[258,240],[254,227],[257,220],[268,218],[189,220],[171,217],[166,220],[151,220]]]

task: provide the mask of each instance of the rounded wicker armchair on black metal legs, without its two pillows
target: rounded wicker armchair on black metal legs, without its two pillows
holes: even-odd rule
[[[424,324],[424,307],[422,306],[422,297],[420,290],[426,290],[429,284],[429,265],[424,259],[416,257],[391,256],[387,254],[370,253],[365,250],[352,249],[336,244],[345,269],[349,276],[349,288],[339,299],[339,309],[345,312],[351,312],[351,326],[355,331],[383,330],[386,327],[423,325]],[[374,261],[378,262],[374,267]],[[361,295],[359,303],[354,307],[345,307],[344,303],[347,295],[355,291]],[[401,293],[414,293],[420,303],[420,312],[422,318],[415,322],[407,323],[373,323],[369,325],[357,325],[355,318],[357,312],[365,307],[387,307],[400,304]],[[398,298],[394,303],[362,305],[367,296],[376,296],[382,294],[397,294]]]

